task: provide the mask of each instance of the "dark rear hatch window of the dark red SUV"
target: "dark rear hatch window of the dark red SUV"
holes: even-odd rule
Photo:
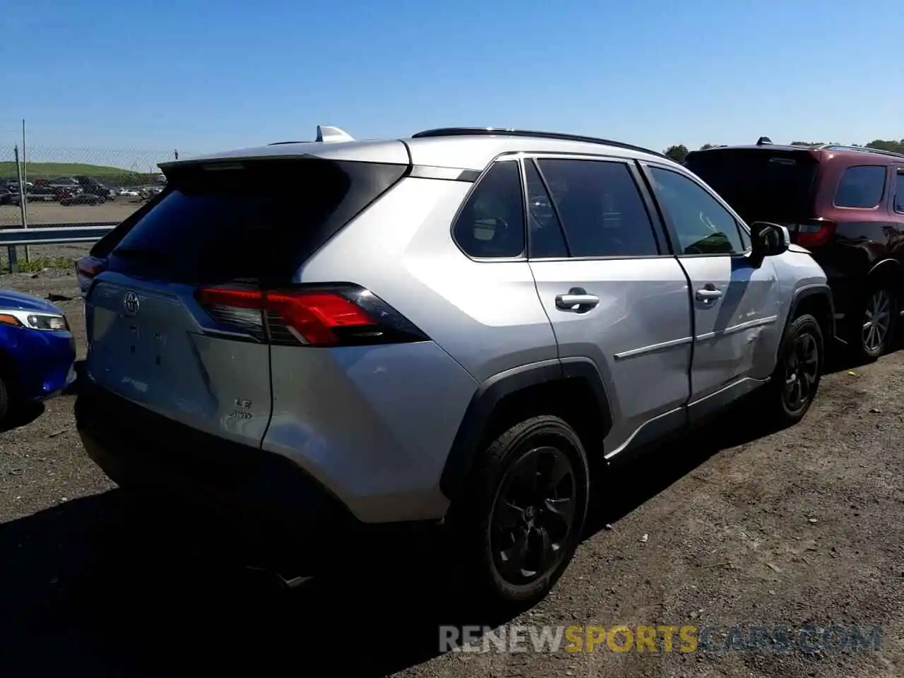
[[[686,166],[748,223],[813,216],[819,161],[805,149],[700,151],[687,156]]]

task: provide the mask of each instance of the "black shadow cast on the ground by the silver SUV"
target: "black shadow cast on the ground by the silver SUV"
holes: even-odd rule
[[[651,453],[656,464],[619,474],[598,528],[756,434],[717,422],[682,454]],[[353,554],[287,592],[240,567],[229,541],[174,507],[136,516],[119,490],[0,525],[0,674],[267,674],[326,658],[381,676],[441,654],[439,626],[510,620],[466,605],[429,547],[381,564]]]

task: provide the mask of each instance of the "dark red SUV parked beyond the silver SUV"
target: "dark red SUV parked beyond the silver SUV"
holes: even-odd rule
[[[862,360],[904,308],[904,155],[861,146],[719,146],[685,165],[748,223],[784,224],[829,278],[839,335]]]

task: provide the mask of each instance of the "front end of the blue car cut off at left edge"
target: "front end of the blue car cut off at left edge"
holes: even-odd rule
[[[51,303],[0,290],[0,421],[11,408],[57,395],[75,381],[75,339]]]

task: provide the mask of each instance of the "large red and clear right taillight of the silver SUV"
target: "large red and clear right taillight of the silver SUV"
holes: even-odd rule
[[[342,346],[427,339],[382,299],[351,285],[267,291],[202,287],[195,297],[218,324],[271,344]]]

